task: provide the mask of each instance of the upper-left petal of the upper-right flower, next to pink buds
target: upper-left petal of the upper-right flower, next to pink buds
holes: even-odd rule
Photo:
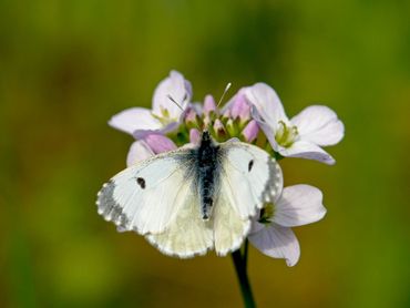
[[[266,123],[273,126],[274,132],[279,121],[289,123],[285,114],[284,106],[275,90],[265,83],[256,83],[245,90],[245,94],[250,104],[253,104],[258,114]]]

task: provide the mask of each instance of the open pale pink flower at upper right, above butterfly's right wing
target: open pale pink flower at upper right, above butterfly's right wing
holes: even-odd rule
[[[278,95],[269,85],[256,83],[247,88],[245,93],[254,106],[253,117],[275,152],[281,156],[335,164],[334,157],[320,147],[337,144],[345,134],[344,123],[332,110],[312,105],[289,120]]]

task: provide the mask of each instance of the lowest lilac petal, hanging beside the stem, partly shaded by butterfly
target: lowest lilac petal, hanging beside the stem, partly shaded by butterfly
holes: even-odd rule
[[[273,258],[286,259],[287,266],[294,266],[300,256],[299,243],[290,228],[271,224],[248,236],[249,242],[260,253]]]

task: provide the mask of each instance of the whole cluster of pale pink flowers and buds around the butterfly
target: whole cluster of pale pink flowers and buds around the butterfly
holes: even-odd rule
[[[219,143],[238,138],[277,160],[301,157],[329,165],[335,160],[321,146],[335,145],[344,137],[344,124],[332,110],[312,105],[289,120],[278,95],[265,83],[240,89],[223,109],[212,95],[203,104],[191,100],[191,83],[172,71],[157,85],[152,110],[132,107],[110,120],[111,126],[135,138],[126,158],[129,166],[187,143],[196,144],[203,129]],[[285,258],[294,266],[300,248],[291,227],[317,222],[325,214],[318,188],[285,187],[254,218],[248,239],[263,254]]]

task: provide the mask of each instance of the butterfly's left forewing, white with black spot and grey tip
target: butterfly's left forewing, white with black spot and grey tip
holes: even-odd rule
[[[188,155],[189,150],[181,148],[120,172],[99,192],[99,214],[121,229],[142,235],[163,232],[192,198],[184,188]]]

